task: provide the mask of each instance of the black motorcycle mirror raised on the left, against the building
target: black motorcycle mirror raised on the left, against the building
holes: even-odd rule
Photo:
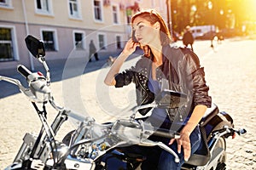
[[[26,48],[30,51],[30,53],[38,58],[45,56],[44,42],[39,41],[36,37],[32,37],[28,35],[25,38]]]

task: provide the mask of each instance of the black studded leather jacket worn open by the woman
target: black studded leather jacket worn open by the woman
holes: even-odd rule
[[[163,47],[163,65],[157,68],[156,77],[164,88],[188,95],[189,111],[195,105],[211,107],[212,99],[208,95],[205,73],[200,66],[196,54],[189,48],[177,48],[167,45]],[[134,82],[137,89],[137,105],[145,105],[154,100],[154,94],[148,89],[148,77],[151,71],[152,59],[142,56],[131,69],[115,76],[116,88]],[[167,82],[164,84],[164,80]],[[140,110],[145,115],[151,108]]]

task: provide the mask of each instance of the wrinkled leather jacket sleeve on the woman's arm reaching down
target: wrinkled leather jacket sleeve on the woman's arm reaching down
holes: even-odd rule
[[[186,70],[188,81],[192,82],[190,87],[193,92],[194,105],[206,105],[211,107],[212,98],[208,95],[209,87],[205,80],[204,68],[200,66],[200,61],[196,54],[190,50],[186,50]]]

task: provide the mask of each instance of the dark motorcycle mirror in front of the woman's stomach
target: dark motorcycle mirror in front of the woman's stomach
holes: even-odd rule
[[[187,95],[172,90],[163,90],[155,99],[159,108],[177,108],[187,104]]]

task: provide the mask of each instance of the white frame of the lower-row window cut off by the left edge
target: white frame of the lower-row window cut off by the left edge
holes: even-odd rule
[[[18,51],[18,45],[17,45],[17,36],[16,36],[15,26],[0,25],[0,28],[10,29],[11,41],[12,41],[12,53],[13,53],[13,58],[12,59],[0,59],[0,62],[19,60],[20,57],[19,57],[19,51]],[[0,42],[2,42],[2,41],[0,41]]]

